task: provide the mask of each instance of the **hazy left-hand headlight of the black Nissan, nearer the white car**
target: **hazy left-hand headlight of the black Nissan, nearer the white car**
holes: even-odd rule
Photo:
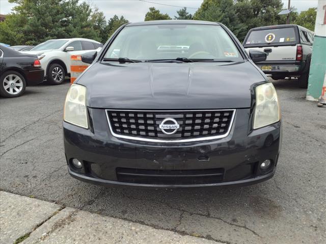
[[[75,126],[88,128],[85,86],[78,84],[70,86],[66,97],[63,120]]]

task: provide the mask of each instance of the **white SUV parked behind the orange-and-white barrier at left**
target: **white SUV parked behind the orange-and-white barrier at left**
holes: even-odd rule
[[[61,84],[70,75],[70,56],[101,50],[102,44],[85,38],[52,39],[24,53],[36,54],[47,83]]]

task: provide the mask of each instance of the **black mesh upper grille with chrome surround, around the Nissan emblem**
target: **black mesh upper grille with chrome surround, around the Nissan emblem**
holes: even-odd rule
[[[111,132],[116,137],[143,141],[199,141],[226,137],[235,109],[188,111],[106,110]],[[159,125],[173,118],[180,128],[173,134],[162,132]]]

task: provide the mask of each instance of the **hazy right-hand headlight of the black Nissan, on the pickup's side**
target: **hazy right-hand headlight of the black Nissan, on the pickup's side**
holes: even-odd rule
[[[254,129],[274,124],[281,119],[280,105],[272,83],[256,87]]]

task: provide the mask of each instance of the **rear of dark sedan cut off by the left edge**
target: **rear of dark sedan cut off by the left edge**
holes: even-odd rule
[[[21,96],[26,86],[43,82],[44,70],[36,55],[18,52],[0,44],[0,95]]]

